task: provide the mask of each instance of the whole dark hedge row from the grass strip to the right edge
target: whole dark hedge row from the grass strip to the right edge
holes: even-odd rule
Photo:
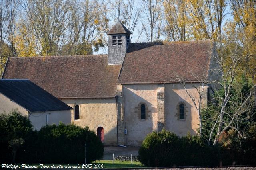
[[[219,166],[248,165],[256,161],[256,128],[251,138],[238,145],[229,132],[218,145],[208,145],[198,136],[178,137],[166,130],[146,136],[139,149],[139,161],[145,166]],[[233,141],[232,141],[233,140]]]

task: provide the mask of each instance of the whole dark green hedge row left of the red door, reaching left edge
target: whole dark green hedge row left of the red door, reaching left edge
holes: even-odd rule
[[[19,145],[10,145],[20,141]],[[17,143],[17,142],[16,142]],[[104,146],[94,131],[78,125],[45,126],[33,131],[27,117],[17,111],[10,115],[0,115],[0,162],[13,162],[13,150],[16,149],[16,161],[20,163],[67,163],[92,162],[103,157]],[[15,148],[14,148],[15,147]]]

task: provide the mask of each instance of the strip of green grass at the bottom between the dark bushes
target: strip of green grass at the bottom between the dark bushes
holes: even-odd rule
[[[112,160],[96,160],[95,162],[92,163],[97,163],[97,164],[103,164],[106,169],[118,169],[118,168],[143,168],[145,167],[138,161],[120,161],[120,160],[115,160],[114,164]]]

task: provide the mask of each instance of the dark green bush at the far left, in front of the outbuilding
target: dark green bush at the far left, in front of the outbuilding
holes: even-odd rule
[[[0,115],[0,160],[20,162],[26,155],[26,150],[30,150],[28,144],[35,136],[36,131],[33,131],[28,118],[18,111]]]

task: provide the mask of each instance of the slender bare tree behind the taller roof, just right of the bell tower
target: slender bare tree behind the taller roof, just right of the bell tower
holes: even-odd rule
[[[142,0],[142,8],[146,15],[146,23],[142,23],[142,27],[146,38],[149,42],[158,41],[160,38],[160,32],[157,30],[157,34],[154,37],[155,29],[161,27],[161,15],[162,9],[159,0]],[[149,26],[149,28],[148,28]]]

